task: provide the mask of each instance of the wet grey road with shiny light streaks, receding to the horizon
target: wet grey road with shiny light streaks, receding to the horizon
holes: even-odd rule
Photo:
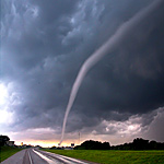
[[[77,159],[54,154],[37,149],[25,149],[1,164],[91,164]]]

